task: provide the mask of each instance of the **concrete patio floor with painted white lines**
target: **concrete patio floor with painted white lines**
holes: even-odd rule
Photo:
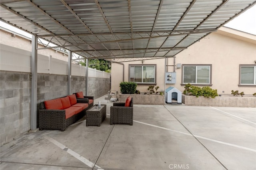
[[[85,117],[3,145],[1,170],[256,170],[256,108],[134,105],[134,123]]]

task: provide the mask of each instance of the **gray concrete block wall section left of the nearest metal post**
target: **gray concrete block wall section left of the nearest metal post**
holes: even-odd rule
[[[0,71],[1,145],[30,130],[30,94],[30,73]]]

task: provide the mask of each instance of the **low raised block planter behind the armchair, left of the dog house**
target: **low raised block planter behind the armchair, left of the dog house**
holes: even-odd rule
[[[164,105],[164,96],[156,94],[119,94],[118,100],[125,102],[128,96],[133,98],[133,104]]]

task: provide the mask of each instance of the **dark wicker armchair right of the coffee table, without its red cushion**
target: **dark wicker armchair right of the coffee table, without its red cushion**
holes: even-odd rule
[[[110,107],[110,125],[130,124],[133,125],[133,100],[130,107],[125,107],[125,103],[113,103]]]

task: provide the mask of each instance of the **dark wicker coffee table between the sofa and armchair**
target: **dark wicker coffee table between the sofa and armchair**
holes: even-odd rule
[[[100,126],[100,124],[106,118],[106,105],[92,106],[90,109],[86,110],[86,126],[94,125]]]

